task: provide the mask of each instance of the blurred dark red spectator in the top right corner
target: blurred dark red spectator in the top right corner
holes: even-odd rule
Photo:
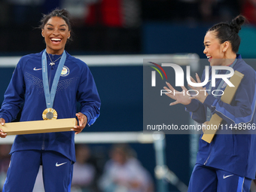
[[[245,0],[242,6],[242,15],[249,23],[256,25],[256,0]]]

